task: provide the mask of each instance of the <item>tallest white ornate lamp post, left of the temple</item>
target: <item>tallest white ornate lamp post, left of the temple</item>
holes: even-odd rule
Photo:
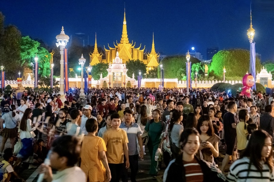
[[[57,42],[56,46],[60,46],[60,55],[61,55],[61,59],[60,59],[60,92],[59,94],[61,95],[61,101],[64,103],[65,102],[65,92],[64,92],[64,85],[65,85],[65,81],[64,81],[64,49],[65,46],[68,43],[69,40],[69,36],[65,34],[64,32],[64,27],[62,26],[61,29],[61,33],[59,35],[56,35],[56,39]]]

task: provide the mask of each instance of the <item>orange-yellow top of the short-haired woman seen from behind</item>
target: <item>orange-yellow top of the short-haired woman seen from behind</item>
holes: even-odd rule
[[[84,136],[80,154],[81,169],[89,181],[105,181],[106,169],[99,157],[99,152],[102,151],[107,151],[102,138],[99,136]]]

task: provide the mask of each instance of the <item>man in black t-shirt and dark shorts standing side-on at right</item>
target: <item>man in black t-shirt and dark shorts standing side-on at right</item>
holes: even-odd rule
[[[227,144],[226,155],[223,158],[221,171],[224,173],[225,167],[229,162],[229,156],[232,155],[232,160],[237,160],[236,151],[234,151],[236,143],[236,126],[237,119],[235,113],[237,111],[237,104],[230,101],[227,105],[228,112],[223,116],[223,129],[224,129],[224,139]]]

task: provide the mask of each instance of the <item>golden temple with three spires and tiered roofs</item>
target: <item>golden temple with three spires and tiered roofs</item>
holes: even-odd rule
[[[156,53],[155,51],[155,45],[154,45],[154,33],[153,33],[153,39],[152,39],[152,49],[150,53],[144,54],[144,49],[146,46],[144,46],[143,49],[141,49],[141,44],[138,48],[135,47],[135,43],[133,44],[133,41],[130,43],[128,40],[128,32],[127,32],[127,22],[126,22],[126,16],[124,12],[124,21],[123,21],[123,29],[122,29],[122,37],[120,42],[118,43],[116,40],[116,45],[114,43],[114,48],[110,47],[108,44],[108,49],[104,46],[105,49],[105,59],[102,59],[102,53],[98,52],[97,49],[97,37],[95,35],[95,44],[94,44],[94,50],[93,53],[90,52],[90,66],[93,66],[97,63],[104,62],[104,63],[110,63],[113,61],[113,59],[116,57],[116,53],[119,52],[119,56],[122,59],[122,62],[125,63],[128,60],[137,60],[144,62],[144,64],[147,66],[147,70],[159,66],[159,53]]]

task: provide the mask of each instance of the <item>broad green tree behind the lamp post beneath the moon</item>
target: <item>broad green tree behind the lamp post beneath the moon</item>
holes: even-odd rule
[[[200,62],[198,59],[194,57],[190,57],[190,61],[192,65]],[[186,76],[186,57],[185,56],[168,56],[162,60],[163,70],[164,70],[164,78],[177,78],[178,80],[183,80]],[[195,66],[198,68],[198,65]],[[158,68],[160,70],[160,68]],[[192,69],[191,69],[192,70]],[[159,76],[160,71],[158,71]],[[195,75],[195,72],[194,72]],[[194,77],[193,77],[194,78]]]

